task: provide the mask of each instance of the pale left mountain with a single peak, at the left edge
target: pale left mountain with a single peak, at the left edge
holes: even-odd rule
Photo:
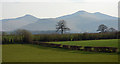
[[[37,20],[39,20],[39,18],[36,18],[28,14],[18,18],[3,19],[2,29],[4,31],[12,31],[12,30],[20,29],[20,27],[37,22]]]

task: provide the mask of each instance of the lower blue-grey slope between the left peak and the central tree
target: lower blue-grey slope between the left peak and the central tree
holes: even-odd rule
[[[37,22],[25,25],[21,27],[21,29],[28,29],[31,31],[48,31],[48,30],[55,30],[56,29],[56,24],[57,24],[56,19],[39,19]]]

